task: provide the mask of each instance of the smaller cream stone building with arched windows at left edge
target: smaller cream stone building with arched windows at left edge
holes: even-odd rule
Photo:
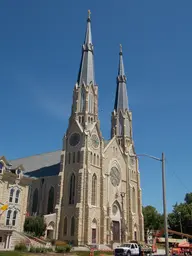
[[[0,156],[0,250],[13,249],[23,231],[32,180],[23,171]]]

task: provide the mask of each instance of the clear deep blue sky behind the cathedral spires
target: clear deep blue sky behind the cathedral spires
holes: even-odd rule
[[[123,45],[137,153],[166,154],[168,210],[191,191],[192,1],[0,1],[0,155],[61,148],[92,12],[99,117],[109,138]],[[160,162],[140,159],[143,204],[162,211]]]

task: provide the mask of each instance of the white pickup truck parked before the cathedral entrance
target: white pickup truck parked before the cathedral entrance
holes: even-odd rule
[[[122,244],[114,250],[115,256],[139,255],[140,249],[137,243]]]

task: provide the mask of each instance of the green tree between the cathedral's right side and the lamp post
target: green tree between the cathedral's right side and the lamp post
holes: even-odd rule
[[[156,231],[163,228],[163,216],[157,209],[151,205],[143,207],[145,239],[148,232]]]

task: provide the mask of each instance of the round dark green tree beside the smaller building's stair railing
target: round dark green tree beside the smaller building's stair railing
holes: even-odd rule
[[[31,216],[25,219],[24,231],[32,233],[37,237],[44,235],[46,229],[46,224],[44,222],[44,217],[42,216]]]

